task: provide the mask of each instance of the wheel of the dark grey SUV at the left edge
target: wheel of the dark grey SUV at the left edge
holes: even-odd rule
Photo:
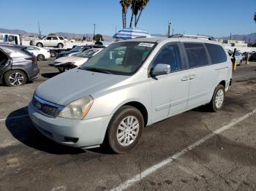
[[[10,70],[4,74],[5,85],[10,87],[24,85],[27,80],[25,72],[20,70]]]

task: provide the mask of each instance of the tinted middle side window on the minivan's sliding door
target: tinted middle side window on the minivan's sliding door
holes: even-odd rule
[[[189,69],[208,65],[206,49],[201,43],[184,43]]]

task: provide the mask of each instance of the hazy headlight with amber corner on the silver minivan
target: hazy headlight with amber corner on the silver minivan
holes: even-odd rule
[[[91,109],[93,103],[94,98],[92,98],[91,95],[80,98],[65,106],[59,113],[59,117],[72,120],[83,120],[83,117],[86,117],[86,114]]]

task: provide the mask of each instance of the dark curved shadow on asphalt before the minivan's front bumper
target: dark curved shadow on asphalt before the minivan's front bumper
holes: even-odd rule
[[[77,155],[85,152],[83,149],[57,144],[39,133],[29,118],[27,107],[10,113],[5,121],[5,125],[15,139],[34,149],[54,155]]]

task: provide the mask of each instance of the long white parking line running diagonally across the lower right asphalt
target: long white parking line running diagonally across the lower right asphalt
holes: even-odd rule
[[[200,139],[199,141],[196,141],[194,144],[189,145],[189,147],[181,150],[181,152],[176,153],[175,155],[172,155],[170,157],[167,157],[167,159],[163,160],[160,163],[157,163],[156,165],[151,166],[150,168],[147,168],[146,170],[142,171],[140,174],[137,174],[132,177],[132,179],[127,180],[126,182],[123,182],[116,187],[113,187],[111,190],[124,190],[128,187],[132,186],[136,182],[139,182],[141,179],[144,179],[146,176],[153,174],[155,171],[157,171],[159,168],[164,167],[165,165],[168,165],[173,162],[173,160],[177,159],[178,157],[181,157],[182,155],[186,154],[190,150],[194,149],[195,147],[199,146],[200,144],[203,144],[208,139],[211,139],[216,134],[222,133],[224,130],[227,130],[229,128],[232,128],[234,125],[236,125],[238,122],[241,122],[245,120],[247,117],[251,116],[252,114],[256,113],[256,109],[252,112],[249,112],[248,114],[245,114],[243,117],[236,118],[232,120],[227,125],[223,126],[222,128],[219,128],[215,130],[213,133],[208,134],[207,136],[203,137],[203,139]]]

